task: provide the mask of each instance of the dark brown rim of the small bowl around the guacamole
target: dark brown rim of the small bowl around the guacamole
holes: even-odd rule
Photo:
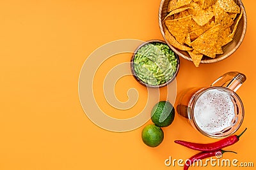
[[[161,88],[161,87],[164,87],[166,85],[168,85],[169,83],[171,83],[177,76],[177,74],[179,73],[179,69],[180,69],[180,59],[179,59],[179,55],[177,55],[177,53],[175,53],[172,48],[169,46],[170,50],[173,51],[176,59],[177,59],[177,69],[175,71],[175,73],[173,74],[172,78],[170,78],[168,81],[166,81],[165,83],[161,84],[161,85],[148,85],[147,83],[143,82],[140,80],[140,78],[138,78],[138,76],[136,75],[135,71],[134,71],[134,57],[135,57],[135,54],[138,52],[138,50],[142,47],[142,46],[145,46],[149,43],[163,43],[164,45],[167,45],[169,46],[166,41],[163,41],[161,39],[150,39],[148,41],[145,41],[144,43],[142,43],[140,46],[138,46],[136,48],[136,50],[134,51],[132,57],[131,57],[131,62],[130,62],[130,67],[131,67],[131,72],[132,72],[132,76],[134,76],[135,80],[138,81],[141,85],[145,86],[145,87],[150,87],[150,88]]]

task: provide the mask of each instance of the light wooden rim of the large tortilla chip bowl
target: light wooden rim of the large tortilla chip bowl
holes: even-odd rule
[[[177,48],[175,48],[174,46],[172,46],[167,39],[165,38],[165,34],[164,34],[164,29],[163,29],[163,22],[162,22],[162,11],[163,11],[163,4],[166,0],[161,0],[160,6],[159,6],[159,13],[158,13],[158,22],[159,22],[159,28],[161,31],[161,34],[164,38],[164,41],[166,41],[167,45],[170,46],[170,48],[173,50],[173,52],[177,53],[177,55],[179,55],[180,57],[186,59],[186,60],[190,60],[193,61],[191,59],[191,57],[187,57],[186,55],[184,55],[183,53],[180,53],[179,50],[177,50]],[[170,1],[170,0],[169,0]],[[239,46],[241,45],[241,43],[243,42],[244,36],[246,34],[246,29],[247,29],[247,16],[246,16],[246,11],[243,5],[243,2],[241,0],[237,0],[240,4],[240,8],[243,10],[243,18],[244,18],[244,25],[243,25],[243,32],[242,32],[242,36],[239,39],[237,45],[230,50],[230,52],[226,53],[223,57],[220,58],[215,58],[215,59],[207,59],[207,60],[201,60],[200,63],[204,63],[204,64],[209,64],[209,63],[214,63],[214,62],[218,62],[220,60],[224,60],[227,57],[229,57],[230,55],[232,55],[232,53],[236,52],[236,50],[239,48]]]

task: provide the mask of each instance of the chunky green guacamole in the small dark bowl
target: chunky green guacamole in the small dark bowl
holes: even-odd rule
[[[152,42],[141,46],[133,59],[136,76],[147,85],[161,85],[177,71],[177,58],[164,43]]]

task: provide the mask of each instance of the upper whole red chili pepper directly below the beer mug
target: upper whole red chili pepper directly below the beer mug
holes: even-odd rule
[[[246,128],[247,129],[247,128]],[[204,152],[211,152],[215,150],[220,150],[222,148],[225,148],[230,145],[234,145],[239,141],[239,138],[241,135],[246,131],[246,129],[237,135],[229,136],[227,138],[221,139],[220,141],[214,142],[214,143],[191,143],[187,141],[174,141],[175,143],[178,143],[179,145],[186,146],[187,148],[191,148],[193,150],[200,150]]]

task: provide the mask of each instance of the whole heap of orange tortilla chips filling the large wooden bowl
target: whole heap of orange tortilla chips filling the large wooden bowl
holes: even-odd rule
[[[164,18],[168,28],[166,40],[175,48],[188,51],[196,67],[204,55],[214,59],[217,54],[223,54],[222,46],[233,40],[243,15],[236,2],[170,0],[170,13]]]

